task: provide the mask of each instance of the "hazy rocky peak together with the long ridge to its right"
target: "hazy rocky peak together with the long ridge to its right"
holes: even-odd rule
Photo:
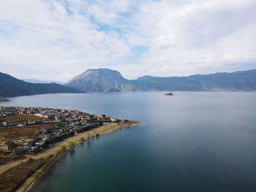
[[[83,91],[256,91],[256,69],[188,77],[143,76],[127,80],[111,69],[88,69],[64,84]]]

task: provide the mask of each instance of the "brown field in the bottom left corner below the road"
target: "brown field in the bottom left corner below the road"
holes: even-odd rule
[[[15,191],[42,166],[42,160],[30,160],[0,174],[0,191]]]

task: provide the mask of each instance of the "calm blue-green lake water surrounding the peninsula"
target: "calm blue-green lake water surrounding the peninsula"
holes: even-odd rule
[[[141,123],[76,147],[35,191],[256,191],[256,93],[48,94],[5,105]]]

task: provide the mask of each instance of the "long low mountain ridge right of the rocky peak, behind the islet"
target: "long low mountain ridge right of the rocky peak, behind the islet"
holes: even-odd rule
[[[256,70],[195,74],[188,77],[139,77],[143,91],[256,91]]]

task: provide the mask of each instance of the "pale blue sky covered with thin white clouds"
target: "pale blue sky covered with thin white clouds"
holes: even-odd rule
[[[255,0],[0,1],[0,72],[67,81],[256,69]]]

